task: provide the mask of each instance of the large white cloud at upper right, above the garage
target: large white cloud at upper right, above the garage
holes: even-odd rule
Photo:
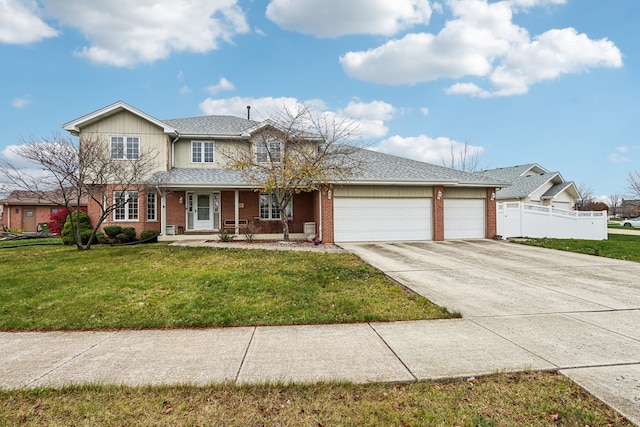
[[[526,93],[537,82],[597,67],[622,66],[620,50],[609,40],[592,40],[573,28],[536,36],[513,22],[513,14],[563,0],[449,0],[453,19],[438,34],[410,33],[366,51],[340,58],[355,78],[384,84],[415,84],[475,77],[491,87],[456,82],[451,94],[478,97]]]

